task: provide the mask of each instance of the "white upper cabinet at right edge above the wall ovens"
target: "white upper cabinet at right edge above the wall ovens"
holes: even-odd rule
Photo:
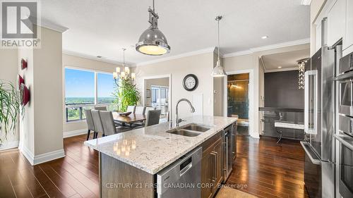
[[[346,34],[343,41],[343,49],[353,45],[353,0],[347,0],[346,16]]]

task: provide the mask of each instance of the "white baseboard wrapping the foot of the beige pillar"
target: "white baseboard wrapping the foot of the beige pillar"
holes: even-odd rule
[[[35,166],[37,164],[44,163],[47,161],[52,161],[54,159],[59,159],[65,156],[64,149],[59,149],[56,151],[51,151],[51,152],[48,152],[45,154],[39,154],[36,156],[34,156],[27,147],[23,147],[21,152],[32,166]]]

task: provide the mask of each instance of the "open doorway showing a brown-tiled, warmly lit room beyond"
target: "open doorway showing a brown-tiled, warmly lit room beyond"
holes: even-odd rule
[[[237,135],[249,135],[250,74],[227,75],[227,116],[238,118]]]

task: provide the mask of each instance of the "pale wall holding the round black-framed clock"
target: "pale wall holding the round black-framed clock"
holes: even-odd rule
[[[172,118],[174,119],[175,106],[181,98],[192,101],[193,94],[203,94],[203,115],[213,115],[213,78],[210,76],[213,69],[213,52],[187,56],[160,63],[152,63],[136,68],[136,83],[138,89],[143,91],[143,78],[155,75],[171,74],[170,91],[172,92]],[[193,92],[184,89],[182,81],[190,73],[198,77],[198,87]],[[143,92],[141,92],[143,93]],[[144,98],[145,96],[142,96]],[[182,102],[179,105],[181,118],[191,116],[188,104]]]

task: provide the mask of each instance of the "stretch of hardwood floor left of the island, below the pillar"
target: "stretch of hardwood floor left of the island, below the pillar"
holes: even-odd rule
[[[98,197],[98,152],[85,137],[64,139],[66,157],[37,166],[17,149],[0,152],[0,197]]]

